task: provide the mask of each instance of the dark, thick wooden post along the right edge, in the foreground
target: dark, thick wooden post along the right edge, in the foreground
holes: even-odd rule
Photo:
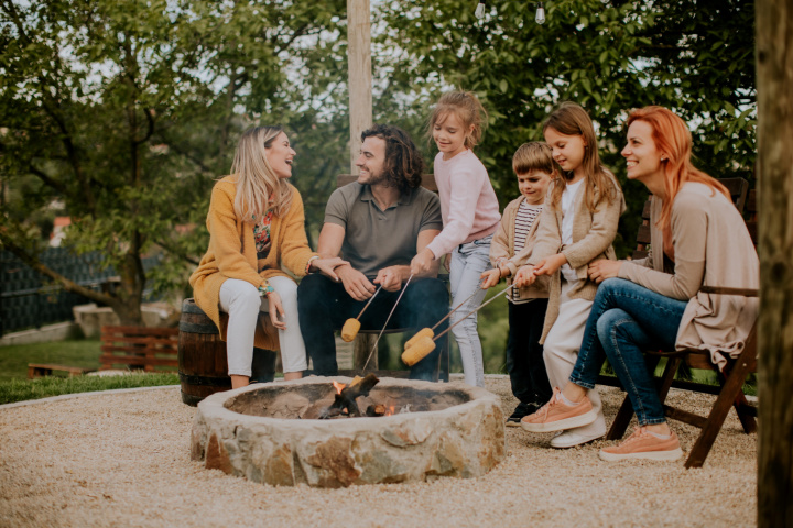
[[[793,526],[793,2],[758,0],[758,526]]]

